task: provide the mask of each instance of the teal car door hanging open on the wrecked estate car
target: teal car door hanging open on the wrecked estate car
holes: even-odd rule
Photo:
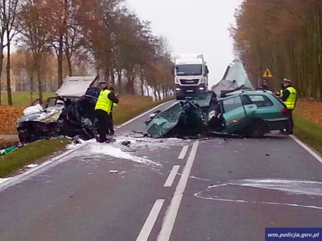
[[[228,134],[243,132],[244,128],[248,125],[248,118],[240,96],[226,97],[221,103],[226,132]],[[256,108],[254,105],[251,106],[251,109]]]

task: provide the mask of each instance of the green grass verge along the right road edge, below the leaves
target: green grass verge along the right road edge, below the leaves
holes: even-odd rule
[[[322,126],[296,114],[293,115],[293,118],[295,136],[322,154]]]

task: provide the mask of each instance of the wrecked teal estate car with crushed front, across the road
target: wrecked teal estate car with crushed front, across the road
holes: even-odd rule
[[[262,90],[238,90],[216,98],[205,93],[177,102],[156,114],[146,126],[152,138],[196,135],[246,135],[261,138],[287,128],[286,107],[273,94]]]

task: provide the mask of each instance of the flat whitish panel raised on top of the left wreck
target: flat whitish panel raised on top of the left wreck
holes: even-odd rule
[[[82,97],[98,76],[67,76],[61,87],[56,91],[57,96]]]

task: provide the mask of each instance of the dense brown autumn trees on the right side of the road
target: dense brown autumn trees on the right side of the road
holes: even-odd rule
[[[235,52],[254,84],[269,68],[276,90],[286,77],[301,96],[322,100],[322,1],[244,0],[235,19]]]

